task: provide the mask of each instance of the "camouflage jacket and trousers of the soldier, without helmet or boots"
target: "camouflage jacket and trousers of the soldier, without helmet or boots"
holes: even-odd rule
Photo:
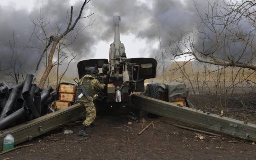
[[[82,106],[86,109],[86,120],[84,120],[83,124],[85,126],[89,126],[96,117],[96,110],[94,104],[92,102],[92,96],[94,95],[94,89],[102,90],[104,88],[104,84],[101,84],[94,76],[90,74],[86,74],[79,81],[80,85],[84,86],[87,94],[90,96],[90,100],[87,100],[85,96],[79,100]]]

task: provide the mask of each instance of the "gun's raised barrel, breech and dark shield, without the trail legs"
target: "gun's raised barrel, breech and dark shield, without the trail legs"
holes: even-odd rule
[[[156,77],[154,58],[127,58],[124,44],[120,41],[120,16],[114,16],[114,42],[110,44],[109,59],[89,59],[78,62],[78,75],[81,79],[87,68],[98,68],[96,78],[107,85],[97,98],[108,106],[129,104],[131,92],[144,92],[144,80]],[[105,104],[104,104],[105,105]]]

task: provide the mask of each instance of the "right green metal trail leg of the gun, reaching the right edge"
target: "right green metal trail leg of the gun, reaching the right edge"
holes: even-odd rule
[[[193,108],[154,98],[133,94],[134,107],[159,116],[172,118],[188,124],[193,124],[209,130],[214,130],[245,140],[256,141],[256,125],[232,118],[203,112]]]

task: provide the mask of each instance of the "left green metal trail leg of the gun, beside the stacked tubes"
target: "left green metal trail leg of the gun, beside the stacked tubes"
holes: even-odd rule
[[[60,126],[64,126],[70,122],[80,120],[84,117],[84,107],[81,106],[80,103],[78,103],[66,109],[58,110],[56,112],[31,120],[26,124],[14,126],[7,130],[4,130],[0,134],[0,150],[2,150],[4,137],[8,132],[10,132],[12,136],[14,136],[14,144],[16,145],[26,140],[31,140],[34,137],[45,134],[56,128],[59,128]]]

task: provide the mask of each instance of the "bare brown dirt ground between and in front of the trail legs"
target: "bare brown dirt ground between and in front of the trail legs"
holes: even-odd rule
[[[211,99],[212,103],[215,102],[214,98]],[[191,101],[195,104],[197,99],[192,97]],[[212,104],[212,108],[214,106]],[[234,109],[241,108],[236,106]],[[152,121],[154,125],[138,136],[138,132]],[[196,128],[169,118],[147,118],[143,114],[136,120],[129,119],[126,115],[98,116],[94,128],[88,128],[88,138],[76,134],[79,126],[66,126],[19,144],[18,146],[33,145],[0,155],[0,160],[255,159],[256,146],[252,142],[228,136],[209,136],[177,128],[166,122]],[[73,130],[74,134],[64,135],[63,130],[67,129]]]

